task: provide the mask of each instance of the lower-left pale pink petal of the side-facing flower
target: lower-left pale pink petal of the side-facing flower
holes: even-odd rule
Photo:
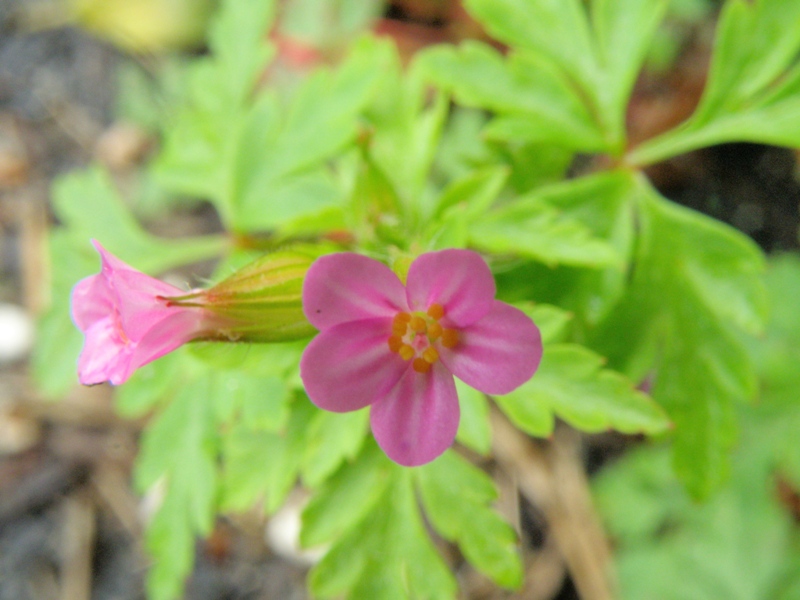
[[[132,348],[119,337],[112,318],[101,319],[86,329],[78,358],[78,380],[83,385],[110,381],[124,383],[133,373]]]

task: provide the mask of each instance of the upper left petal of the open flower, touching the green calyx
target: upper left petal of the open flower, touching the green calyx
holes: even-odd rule
[[[389,267],[360,254],[318,258],[303,283],[303,311],[325,330],[340,323],[408,310],[403,284]]]

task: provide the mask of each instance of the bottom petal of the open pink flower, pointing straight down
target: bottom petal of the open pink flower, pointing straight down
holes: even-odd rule
[[[370,409],[372,433],[396,463],[415,467],[453,443],[460,417],[453,376],[440,363],[427,373],[408,369]]]

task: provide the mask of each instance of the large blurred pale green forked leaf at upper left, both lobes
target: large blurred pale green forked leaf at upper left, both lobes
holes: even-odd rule
[[[298,222],[342,208],[328,162],[354,140],[388,46],[359,40],[337,69],[314,71],[284,101],[273,89],[255,89],[273,52],[264,41],[272,3],[255,5],[222,11],[214,54],[190,69],[191,92],[156,173],[174,192],[213,202],[236,231],[297,232]]]

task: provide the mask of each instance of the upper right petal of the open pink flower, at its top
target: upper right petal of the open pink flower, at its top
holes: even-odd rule
[[[494,277],[481,256],[471,250],[441,250],[419,256],[406,282],[411,310],[434,303],[458,326],[474,323],[492,308]]]

